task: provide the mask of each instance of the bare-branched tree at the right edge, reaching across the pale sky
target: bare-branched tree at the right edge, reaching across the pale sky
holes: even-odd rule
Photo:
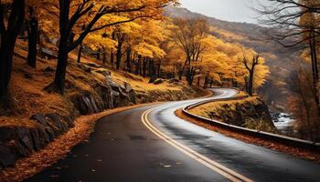
[[[319,73],[317,46],[319,38],[320,2],[318,0],[268,0],[272,5],[264,5],[258,13],[261,23],[272,27],[268,35],[288,48],[310,50],[313,90],[317,113],[320,116]]]

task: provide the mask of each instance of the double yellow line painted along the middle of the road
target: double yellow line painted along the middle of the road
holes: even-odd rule
[[[213,171],[219,173],[223,177],[228,178],[230,181],[233,182],[253,182],[248,177],[244,177],[240,175],[239,173],[229,169],[228,167],[224,167],[220,165],[219,163],[209,159],[208,157],[205,157],[196,151],[176,142],[176,140],[170,138],[169,136],[166,136],[164,133],[162,133],[160,130],[155,128],[150,121],[148,120],[148,114],[152,111],[152,109],[149,109],[144,112],[142,116],[142,121],[144,123],[144,126],[146,126],[150,131],[152,131],[156,136],[159,136],[161,139],[163,139],[166,143],[170,144],[173,147],[176,147],[176,149],[180,150],[184,154],[186,154],[188,157],[191,157],[197,162],[201,163],[202,165],[212,169]]]

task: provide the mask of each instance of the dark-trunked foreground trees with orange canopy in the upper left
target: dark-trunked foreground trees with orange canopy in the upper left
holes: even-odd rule
[[[24,25],[28,26],[28,65],[35,67],[37,26],[48,36],[58,36],[58,66],[52,89],[65,93],[68,55],[84,39],[95,32],[114,25],[133,22],[139,18],[161,18],[165,5],[176,5],[175,0],[6,0],[0,2],[0,103],[9,103],[8,85],[11,78],[16,39]],[[41,23],[41,24],[39,24]]]

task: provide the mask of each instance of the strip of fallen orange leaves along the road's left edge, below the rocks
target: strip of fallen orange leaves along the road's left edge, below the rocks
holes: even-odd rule
[[[59,159],[66,157],[72,147],[75,147],[81,141],[86,140],[93,132],[96,121],[102,116],[112,115],[125,110],[133,109],[150,104],[126,106],[112,110],[106,110],[99,114],[91,116],[80,116],[75,121],[75,126],[47,147],[37,151],[30,157],[19,159],[16,167],[7,167],[0,171],[0,181],[23,181],[27,177],[32,177],[46,167],[56,163]]]

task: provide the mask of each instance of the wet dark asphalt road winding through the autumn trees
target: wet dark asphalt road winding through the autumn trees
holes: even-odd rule
[[[231,89],[215,91],[214,98],[236,94]],[[27,181],[320,181],[320,165],[314,162],[222,136],[175,116],[176,109],[201,100],[102,117],[88,142]]]

